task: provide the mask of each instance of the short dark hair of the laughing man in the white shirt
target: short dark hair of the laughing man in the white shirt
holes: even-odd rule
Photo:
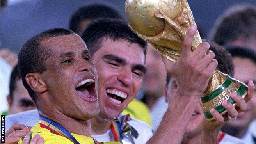
[[[130,43],[136,43],[142,47],[146,57],[146,41],[133,33],[129,26],[121,20],[98,19],[90,23],[82,34],[82,39],[85,41],[91,55],[101,47],[101,41],[104,37],[113,41],[124,40]]]

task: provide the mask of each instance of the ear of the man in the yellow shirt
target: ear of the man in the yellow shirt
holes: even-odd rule
[[[39,73],[28,73],[26,75],[26,82],[30,88],[38,93],[42,93],[47,90],[46,83],[43,81],[41,74]]]

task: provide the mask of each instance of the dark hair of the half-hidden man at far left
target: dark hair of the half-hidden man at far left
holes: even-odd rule
[[[20,79],[21,79],[21,76],[20,76],[20,73],[18,72],[18,66],[16,65],[11,72],[11,79],[10,79],[10,85],[9,85],[11,101],[13,100],[13,93],[14,93],[14,90],[16,89],[16,82]]]

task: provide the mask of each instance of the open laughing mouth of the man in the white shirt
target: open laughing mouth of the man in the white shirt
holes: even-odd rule
[[[117,89],[107,89],[106,93],[110,100],[116,104],[121,104],[127,98],[127,94],[125,92]]]

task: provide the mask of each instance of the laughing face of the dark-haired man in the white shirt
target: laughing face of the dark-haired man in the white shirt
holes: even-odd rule
[[[92,60],[98,71],[100,116],[114,120],[142,85],[146,72],[143,49],[128,41],[103,38]]]

